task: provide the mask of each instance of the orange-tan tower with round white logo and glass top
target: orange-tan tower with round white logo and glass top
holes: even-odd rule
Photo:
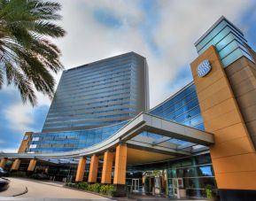
[[[195,45],[199,56],[190,66],[205,129],[215,138],[210,154],[220,195],[223,200],[253,200],[255,52],[243,33],[224,17]],[[211,67],[202,66],[205,61]]]

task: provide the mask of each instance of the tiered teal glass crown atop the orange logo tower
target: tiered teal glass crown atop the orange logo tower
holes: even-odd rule
[[[222,17],[195,45],[199,55],[211,45],[215,46],[222,65],[227,67],[243,56],[254,62],[250,52],[245,47],[246,43],[244,34],[228,19]]]

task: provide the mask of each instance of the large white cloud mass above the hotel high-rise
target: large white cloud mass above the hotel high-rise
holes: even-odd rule
[[[63,51],[62,61],[66,68],[86,64],[101,58],[111,57],[128,51],[136,51],[147,58],[150,68],[151,106],[158,104],[174,92],[169,83],[181,66],[189,66],[197,57],[193,43],[225,15],[231,21],[240,17],[249,1],[244,0],[196,0],[157,1],[158,24],[152,40],[162,52],[154,55],[141,32],[144,21],[151,17],[143,12],[140,1],[59,1],[64,16],[61,24],[67,30],[65,38],[57,41]],[[92,16],[96,8],[111,11],[123,22],[120,29],[112,29],[97,23]],[[185,83],[183,83],[184,85]]]

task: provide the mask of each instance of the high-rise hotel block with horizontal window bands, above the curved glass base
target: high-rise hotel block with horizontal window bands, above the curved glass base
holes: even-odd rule
[[[129,120],[148,109],[147,85],[146,60],[134,52],[66,70],[43,133],[99,128]]]

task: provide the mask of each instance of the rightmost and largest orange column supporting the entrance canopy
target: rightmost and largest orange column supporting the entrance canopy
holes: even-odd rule
[[[120,144],[116,148],[113,184],[126,183],[127,145]]]

